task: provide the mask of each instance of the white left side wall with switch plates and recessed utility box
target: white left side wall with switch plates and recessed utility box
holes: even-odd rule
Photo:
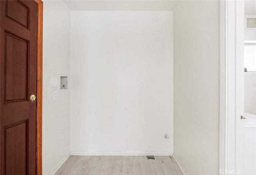
[[[43,26],[43,175],[52,175],[70,153],[70,91],[60,90],[60,76],[70,72],[70,10],[63,1],[44,1]],[[49,77],[58,87],[49,87]],[[53,92],[58,91],[58,100]]]

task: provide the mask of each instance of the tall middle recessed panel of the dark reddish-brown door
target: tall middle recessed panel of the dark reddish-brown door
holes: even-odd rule
[[[27,101],[29,41],[5,31],[4,46],[6,51],[4,103]]]

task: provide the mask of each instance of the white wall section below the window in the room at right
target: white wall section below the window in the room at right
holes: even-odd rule
[[[256,115],[256,72],[244,73],[244,112]]]

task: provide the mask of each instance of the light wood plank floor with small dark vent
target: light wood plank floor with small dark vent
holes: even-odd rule
[[[71,155],[55,175],[183,175],[172,156]]]

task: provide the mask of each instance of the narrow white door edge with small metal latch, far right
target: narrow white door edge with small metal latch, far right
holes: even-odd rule
[[[244,1],[236,1],[236,173],[244,174]]]

